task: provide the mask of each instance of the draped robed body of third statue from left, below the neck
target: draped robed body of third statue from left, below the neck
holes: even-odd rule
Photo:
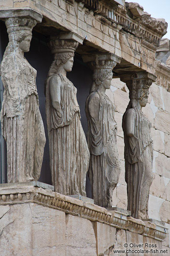
[[[113,114],[113,104],[106,95],[98,91],[89,95],[86,100],[87,138],[91,154],[89,177],[94,203],[102,207],[112,206],[112,194],[120,174],[117,124]]]

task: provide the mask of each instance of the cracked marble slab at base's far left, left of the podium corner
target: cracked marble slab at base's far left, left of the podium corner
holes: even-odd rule
[[[5,211],[7,211],[6,214],[3,214],[0,219],[0,248],[3,250],[2,255],[15,256],[19,252],[20,256],[31,256],[32,218],[29,205],[11,205]]]

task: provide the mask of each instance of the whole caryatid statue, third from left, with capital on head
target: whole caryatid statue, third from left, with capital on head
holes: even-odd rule
[[[101,60],[103,59],[103,60]],[[114,105],[105,94],[110,89],[112,69],[116,62],[105,55],[92,61],[93,82],[86,100],[88,146],[90,150],[89,178],[94,203],[112,207],[113,190],[118,184],[120,160],[117,149],[117,124]]]

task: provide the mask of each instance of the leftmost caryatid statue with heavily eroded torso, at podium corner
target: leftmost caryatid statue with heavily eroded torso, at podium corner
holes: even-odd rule
[[[33,17],[37,16],[41,22],[41,14],[28,12],[29,15],[33,12]],[[11,11],[11,17],[5,19],[9,43],[1,62],[4,94],[0,120],[7,143],[8,183],[39,179],[46,142],[39,112],[37,71],[24,57],[37,24],[33,17],[16,17]]]

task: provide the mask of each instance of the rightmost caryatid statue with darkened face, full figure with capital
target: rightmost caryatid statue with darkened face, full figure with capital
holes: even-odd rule
[[[142,112],[146,106],[149,87],[155,76],[136,72],[121,77],[130,90],[130,102],[123,115],[125,141],[125,179],[128,191],[128,210],[134,218],[148,217],[149,189],[153,181],[153,140],[151,123]]]

